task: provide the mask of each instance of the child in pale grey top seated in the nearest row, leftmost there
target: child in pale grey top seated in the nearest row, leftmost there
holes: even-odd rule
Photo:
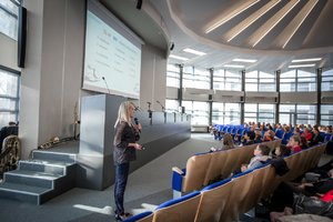
[[[241,171],[253,170],[258,167],[261,167],[271,160],[270,157],[271,149],[265,144],[259,144],[253,151],[254,157],[251,159],[250,163],[243,164]]]

